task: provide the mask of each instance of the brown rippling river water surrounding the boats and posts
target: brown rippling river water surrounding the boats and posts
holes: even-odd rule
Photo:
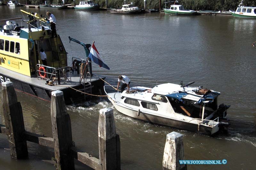
[[[0,6],[0,19],[22,17],[20,9],[46,15],[44,9]],[[122,169],[162,169],[166,135],[172,131],[184,135],[185,159],[227,160],[226,165],[190,165],[188,169],[255,169],[256,48],[252,43],[256,41],[256,20],[163,13],[51,12],[57,18],[57,33],[70,64],[72,56],[84,57],[84,49],[75,42],[69,43],[68,36],[85,43],[95,41],[110,70],[93,64],[93,72],[106,76],[112,85],[117,84],[118,75],[127,75],[131,86],[195,81],[194,85],[221,92],[219,104],[231,105],[228,135],[217,137],[134,120],[117,112],[106,98],[69,105],[67,111],[77,148],[99,156],[99,110],[110,107],[114,109],[121,140]],[[26,130],[52,137],[50,103],[20,92],[17,95]],[[1,108],[0,123],[4,124],[2,112]],[[28,142],[29,159],[15,160],[10,158],[8,148],[6,136],[0,135],[0,169],[55,169],[51,163],[42,161],[54,157],[52,149]],[[76,162],[76,169],[84,167]]]

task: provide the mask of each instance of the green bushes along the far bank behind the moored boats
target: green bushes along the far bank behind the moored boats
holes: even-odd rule
[[[6,0],[7,1],[7,0]],[[21,4],[44,4],[44,0],[18,0]],[[164,8],[164,2],[170,2],[173,0],[162,0],[161,9]],[[8,2],[8,1],[7,1]],[[93,0],[94,3],[98,3],[100,7],[106,7],[106,0]],[[133,2],[133,5],[139,8],[144,8],[143,0],[127,0],[127,3]],[[228,11],[236,10],[236,7],[240,4],[241,0],[179,0],[179,3],[189,10],[216,10],[216,11]],[[47,0],[48,4],[60,4],[62,0]],[[73,0],[65,0],[66,4],[74,4]],[[127,4],[126,3],[126,4]],[[79,0],[75,0],[75,4],[79,4]],[[123,0],[108,0],[108,7],[121,8],[124,4]],[[255,6],[255,0],[244,0],[244,6]],[[168,7],[168,6],[167,6]],[[147,9],[159,9],[159,0],[147,0]]]

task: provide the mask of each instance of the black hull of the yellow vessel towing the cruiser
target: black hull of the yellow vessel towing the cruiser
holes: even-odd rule
[[[54,90],[45,89],[40,86],[34,85],[32,83],[30,84],[20,79],[12,78],[8,75],[4,75],[3,73],[0,73],[0,80],[1,80],[1,83],[5,81],[11,81],[14,85],[14,89],[17,91],[26,93],[30,96],[34,96],[45,101],[51,101],[52,91]],[[94,95],[104,94],[103,86],[104,86],[104,82],[100,79],[92,81],[92,94]],[[76,91],[72,88],[75,88],[81,92]],[[61,89],[61,91],[63,92],[63,96],[66,104],[84,101],[84,100],[90,100],[92,98],[91,95],[82,93],[82,92],[89,93],[89,94],[91,93],[89,82],[85,83],[85,85],[78,84],[76,86],[72,86],[72,88],[64,87],[63,89]]]

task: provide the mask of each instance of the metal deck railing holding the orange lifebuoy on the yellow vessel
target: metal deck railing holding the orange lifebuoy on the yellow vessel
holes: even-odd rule
[[[37,79],[45,79],[48,85],[52,85],[55,82],[56,85],[60,85],[61,78],[64,78],[64,83],[66,80],[71,82],[71,70],[69,66],[54,68],[49,66],[44,66],[42,64],[36,64],[36,76]],[[67,71],[69,72],[67,74]]]

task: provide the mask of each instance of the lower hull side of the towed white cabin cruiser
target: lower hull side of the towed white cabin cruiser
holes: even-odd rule
[[[200,134],[204,134],[204,135],[214,135],[220,129],[219,125],[212,128],[212,127],[208,127],[208,126],[198,125],[195,123],[183,122],[180,120],[151,115],[151,114],[147,114],[147,113],[143,113],[143,112],[140,112],[140,115],[138,116],[138,113],[136,111],[134,111],[132,109],[121,107],[114,102],[112,102],[112,103],[115,106],[116,110],[118,110],[120,113],[130,116],[132,118],[141,120],[143,122],[148,122],[148,123],[152,123],[152,124],[156,124],[156,125],[171,127],[171,128],[175,128],[175,129],[187,130],[187,131],[200,133]]]

